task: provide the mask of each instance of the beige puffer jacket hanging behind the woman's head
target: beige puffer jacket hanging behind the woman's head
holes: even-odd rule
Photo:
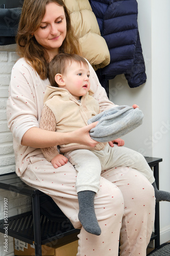
[[[63,0],[70,11],[72,27],[79,38],[85,57],[94,70],[110,63],[105,39],[101,36],[98,22],[88,0]]]

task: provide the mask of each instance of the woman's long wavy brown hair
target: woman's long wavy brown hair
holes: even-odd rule
[[[47,78],[49,59],[45,48],[38,44],[33,34],[45,15],[46,5],[52,2],[63,6],[66,17],[66,37],[59,48],[59,53],[81,54],[78,39],[71,26],[69,12],[62,0],[25,0],[16,36],[17,53],[32,65],[41,79]]]

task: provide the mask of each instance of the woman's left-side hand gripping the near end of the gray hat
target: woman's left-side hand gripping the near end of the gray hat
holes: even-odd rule
[[[86,146],[94,147],[99,142],[91,139],[91,137],[89,135],[89,131],[92,128],[94,128],[97,123],[98,122],[88,124],[82,128],[79,128],[78,130],[76,130],[74,132],[69,133],[70,134],[69,137],[71,138],[71,142],[69,142],[69,143],[78,143],[78,144],[83,144]]]

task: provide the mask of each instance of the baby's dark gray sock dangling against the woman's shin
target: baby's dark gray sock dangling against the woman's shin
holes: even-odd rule
[[[99,236],[101,234],[101,228],[94,212],[94,195],[95,192],[91,190],[85,190],[78,192],[79,200],[79,220],[84,229],[92,234]]]

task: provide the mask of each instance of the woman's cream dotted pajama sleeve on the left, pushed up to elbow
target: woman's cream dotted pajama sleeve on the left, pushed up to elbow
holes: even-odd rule
[[[22,136],[33,127],[39,127],[43,107],[45,83],[38,80],[33,68],[21,58],[11,72],[7,101],[8,127],[21,145]]]

